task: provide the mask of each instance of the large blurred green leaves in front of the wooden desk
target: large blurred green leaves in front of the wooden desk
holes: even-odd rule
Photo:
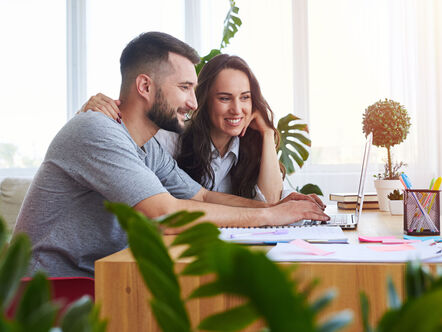
[[[348,312],[343,312],[319,325],[316,322],[318,313],[330,303],[334,294],[327,293],[310,304],[307,295],[315,282],[305,292],[300,291],[287,269],[270,261],[264,253],[221,241],[219,230],[212,223],[192,224],[202,213],[180,211],[152,220],[135,210],[130,213],[131,208],[120,203],[106,203],[106,207],[125,227],[129,246],[153,297],[152,312],[162,331],[194,331],[186,301],[220,294],[239,296],[244,303],[205,318],[198,329],[238,331],[261,318],[271,331],[328,332],[351,321]],[[215,280],[194,289],[188,299],[181,297],[174,262],[162,239],[161,229],[165,225],[187,226],[170,245],[185,246],[180,257],[193,259],[181,275],[215,276]]]

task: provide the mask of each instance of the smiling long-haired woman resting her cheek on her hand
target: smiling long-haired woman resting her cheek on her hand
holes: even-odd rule
[[[210,190],[278,202],[283,187],[283,167],[276,153],[278,131],[247,63],[227,54],[214,57],[198,76],[196,97],[198,109],[180,139],[160,130],[155,135],[160,144]],[[118,105],[119,101],[98,94],[82,110],[100,111],[119,121]]]

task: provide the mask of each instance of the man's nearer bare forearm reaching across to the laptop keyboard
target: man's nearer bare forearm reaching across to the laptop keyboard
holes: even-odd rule
[[[161,193],[142,200],[134,208],[149,218],[157,218],[180,210],[203,211],[204,220],[209,220],[220,227],[279,226],[301,219],[329,220],[318,205],[309,200],[288,201],[269,208],[245,208],[177,199],[169,193]]]

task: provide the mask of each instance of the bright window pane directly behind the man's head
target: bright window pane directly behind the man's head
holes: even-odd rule
[[[87,96],[120,92],[120,55],[146,31],[162,31],[184,40],[184,1],[87,1]],[[103,10],[106,8],[106,10]]]

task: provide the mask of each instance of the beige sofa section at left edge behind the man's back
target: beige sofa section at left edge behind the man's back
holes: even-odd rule
[[[0,216],[12,231],[31,178],[4,178],[0,182]]]

